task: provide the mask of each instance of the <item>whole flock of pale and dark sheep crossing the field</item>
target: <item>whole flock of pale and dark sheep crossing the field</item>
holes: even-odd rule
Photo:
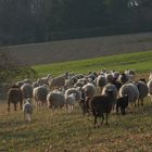
[[[119,109],[123,115],[126,107],[130,105],[134,110],[136,105],[143,106],[143,99],[150,96],[152,101],[152,73],[149,79],[136,79],[132,69],[124,73],[101,69],[100,72],[89,72],[89,74],[65,73],[53,77],[48,74],[46,77],[31,81],[25,79],[17,81],[8,91],[8,111],[13,103],[14,110],[20,103],[24,112],[24,117],[31,121],[34,106],[36,110],[43,107],[62,109],[72,112],[75,104],[79,104],[83,114],[94,116],[94,127],[99,127],[98,117],[107,115]]]

